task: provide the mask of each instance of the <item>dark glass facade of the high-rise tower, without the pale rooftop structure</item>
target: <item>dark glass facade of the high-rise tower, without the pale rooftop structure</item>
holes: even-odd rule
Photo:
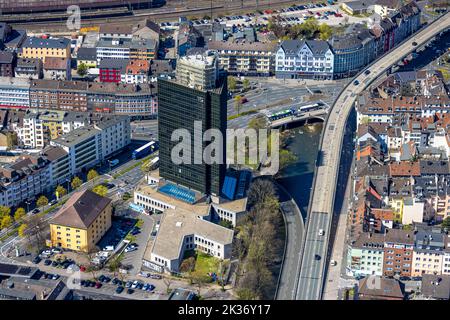
[[[205,194],[219,195],[225,176],[225,146],[227,123],[227,83],[226,77],[219,79],[216,89],[202,91],[184,86],[175,81],[158,80],[158,131],[159,131],[159,174],[162,178],[189,187]],[[201,132],[197,137],[201,150],[194,148],[194,124],[201,122]],[[191,164],[175,164],[172,161],[172,149],[179,141],[172,141],[172,132],[186,129],[191,136]],[[205,164],[203,150],[209,142],[202,142],[203,134],[208,129],[222,132],[222,164]],[[186,143],[186,141],[183,141]],[[184,148],[184,150],[186,150]],[[194,158],[201,159],[201,164],[194,164]]]

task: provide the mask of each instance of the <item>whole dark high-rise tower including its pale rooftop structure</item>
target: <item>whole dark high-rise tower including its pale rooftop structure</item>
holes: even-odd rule
[[[227,95],[227,77],[219,72],[217,54],[211,51],[180,58],[176,80],[158,80],[159,174],[162,178],[201,193],[220,195],[226,170]],[[201,124],[201,132],[194,132],[196,122]],[[186,129],[191,135],[191,164],[177,165],[172,161],[172,150],[179,141],[171,138],[177,129]],[[207,164],[203,160],[203,150],[210,142],[200,141],[201,149],[198,144],[194,145],[198,143],[194,137],[201,138],[208,129],[222,132],[220,164]],[[201,159],[201,164],[195,164],[195,159]]]

